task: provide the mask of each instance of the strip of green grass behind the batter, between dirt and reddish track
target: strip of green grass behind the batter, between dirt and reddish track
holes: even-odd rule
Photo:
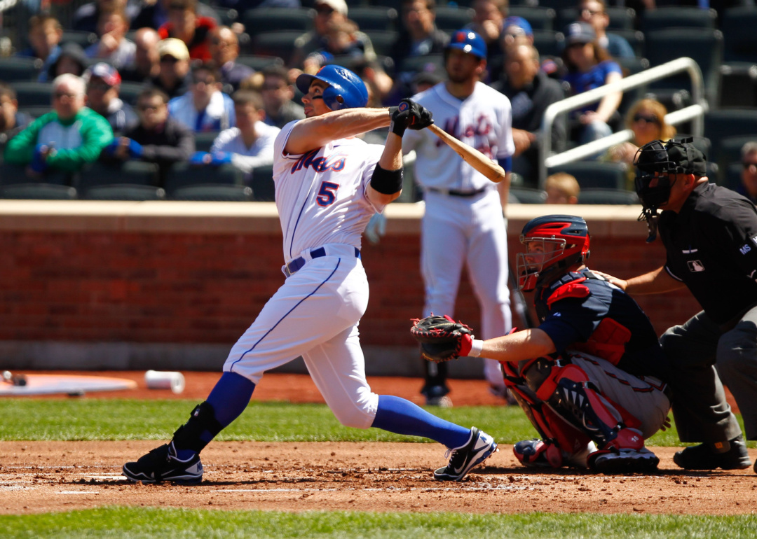
[[[0,440],[163,440],[185,423],[196,401],[111,399],[0,399]],[[478,426],[512,444],[536,431],[519,407],[434,408],[431,413],[463,426]],[[739,420],[741,418],[739,417]],[[218,440],[422,441],[378,429],[341,426],[325,404],[252,402]],[[680,445],[675,428],[648,445]],[[749,442],[755,447],[755,442]]]

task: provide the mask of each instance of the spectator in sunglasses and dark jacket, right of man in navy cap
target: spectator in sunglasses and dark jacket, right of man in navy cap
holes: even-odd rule
[[[168,96],[157,88],[142,91],[136,109],[139,125],[115,139],[105,153],[121,161],[157,163],[164,178],[173,163],[186,161],[195,153],[195,135],[168,116]]]

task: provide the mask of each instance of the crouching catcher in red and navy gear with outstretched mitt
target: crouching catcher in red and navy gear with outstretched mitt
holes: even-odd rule
[[[481,341],[449,317],[415,321],[429,361],[496,359],[541,439],[513,451],[525,466],[601,473],[650,472],[659,458],[644,440],[669,426],[668,367],[649,318],[618,287],[593,274],[581,217],[546,215],[521,234],[519,290],[534,291],[537,328]]]

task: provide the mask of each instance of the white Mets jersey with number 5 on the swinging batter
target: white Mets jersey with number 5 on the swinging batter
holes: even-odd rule
[[[366,197],[373,169],[384,147],[359,138],[341,138],[302,155],[284,147],[296,122],[276,138],[273,181],[284,233],[284,259],[327,243],[360,249],[371,216],[382,211]]]

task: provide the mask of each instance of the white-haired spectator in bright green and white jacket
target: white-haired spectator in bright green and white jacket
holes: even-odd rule
[[[85,88],[76,75],[56,77],[53,110],[8,141],[5,161],[26,166],[27,176],[42,181],[48,173],[77,172],[97,160],[113,140],[113,130],[106,119],[84,106]]]

